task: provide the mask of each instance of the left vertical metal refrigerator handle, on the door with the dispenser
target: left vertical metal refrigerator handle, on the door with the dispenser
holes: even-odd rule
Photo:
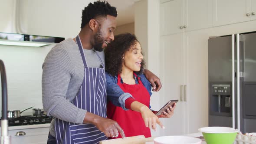
[[[235,35],[232,34],[232,127],[235,128]]]

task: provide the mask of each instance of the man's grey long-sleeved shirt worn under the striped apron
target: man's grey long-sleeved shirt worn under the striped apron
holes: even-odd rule
[[[87,65],[100,67],[93,49],[84,49]],[[98,52],[104,62],[104,52]],[[84,66],[79,48],[73,39],[66,39],[53,47],[43,63],[43,108],[47,115],[82,124],[86,110],[71,102],[77,95],[84,77]],[[62,112],[60,112],[62,111]],[[50,134],[55,137],[55,121],[51,122]]]

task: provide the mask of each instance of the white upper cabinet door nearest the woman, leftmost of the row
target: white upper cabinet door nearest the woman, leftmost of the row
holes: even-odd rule
[[[160,35],[181,33],[183,29],[183,0],[171,0],[160,4]]]

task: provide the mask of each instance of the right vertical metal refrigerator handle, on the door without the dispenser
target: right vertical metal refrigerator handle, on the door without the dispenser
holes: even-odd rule
[[[236,93],[237,93],[237,129],[240,131],[240,37],[236,34]]]

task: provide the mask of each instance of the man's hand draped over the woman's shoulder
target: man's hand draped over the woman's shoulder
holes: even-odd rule
[[[144,75],[146,76],[148,81],[151,83],[153,87],[153,91],[158,92],[162,87],[160,79],[156,75],[154,75],[154,73],[150,72],[148,69],[144,69]]]

